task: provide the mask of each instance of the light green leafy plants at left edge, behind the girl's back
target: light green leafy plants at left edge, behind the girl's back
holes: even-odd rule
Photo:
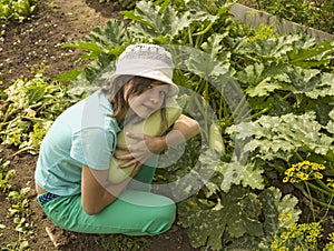
[[[37,73],[33,79],[18,79],[3,90],[0,110],[0,139],[36,154],[42,138],[55,119],[78,97],[67,92],[65,86]]]

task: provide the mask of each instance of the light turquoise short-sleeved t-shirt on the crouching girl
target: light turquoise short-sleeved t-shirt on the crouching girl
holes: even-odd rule
[[[82,164],[107,170],[120,131],[112,107],[101,91],[60,114],[45,137],[37,161],[36,182],[58,195],[81,192]]]

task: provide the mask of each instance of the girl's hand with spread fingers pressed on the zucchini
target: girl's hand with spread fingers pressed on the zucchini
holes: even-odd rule
[[[129,151],[128,154],[115,155],[115,158],[118,160],[128,160],[126,163],[119,165],[119,168],[127,168],[132,164],[136,164],[136,168],[138,168],[147,159],[161,152],[167,147],[165,137],[150,137],[143,133],[132,132],[127,132],[127,137],[137,140],[137,142],[131,145],[117,145],[117,149]]]

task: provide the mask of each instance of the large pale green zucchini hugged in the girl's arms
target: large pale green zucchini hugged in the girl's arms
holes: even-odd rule
[[[139,123],[131,123],[131,122],[127,123],[125,128],[117,135],[117,144],[136,143],[136,140],[128,138],[126,135],[126,132],[144,133],[151,137],[163,135],[180,114],[181,114],[181,109],[178,107],[178,104],[174,99],[169,98],[166,104],[167,124],[161,126],[160,110],[158,110],[151,116],[149,116],[146,120]],[[116,149],[115,151],[115,154],[118,155],[122,155],[128,152],[119,149]],[[109,167],[109,177],[108,177],[111,183],[119,183],[131,174],[135,164],[125,169],[118,168],[118,165],[126,161],[117,160],[116,158],[111,159],[110,167]]]

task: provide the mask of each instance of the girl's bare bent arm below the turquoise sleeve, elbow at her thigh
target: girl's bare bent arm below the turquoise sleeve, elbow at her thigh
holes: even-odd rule
[[[86,164],[82,165],[81,203],[89,215],[99,213],[108,204],[112,203],[127,187],[131,177],[139,171],[135,168],[131,175],[118,184],[108,183],[108,170],[97,171]]]

